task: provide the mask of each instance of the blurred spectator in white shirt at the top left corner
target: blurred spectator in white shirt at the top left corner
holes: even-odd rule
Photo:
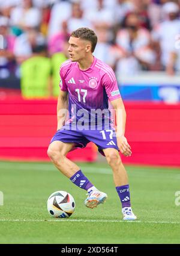
[[[10,22],[14,34],[19,36],[27,26],[31,28],[40,26],[41,11],[33,6],[32,0],[23,0],[22,6],[17,6],[11,11]]]

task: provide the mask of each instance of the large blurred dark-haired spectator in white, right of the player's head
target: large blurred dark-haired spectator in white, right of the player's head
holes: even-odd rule
[[[151,36],[146,28],[140,28],[139,16],[130,13],[124,20],[124,29],[118,31],[116,44],[124,58],[120,58],[116,71],[133,75],[141,69],[151,69],[155,62],[155,52],[151,49]],[[117,60],[115,60],[117,61]]]

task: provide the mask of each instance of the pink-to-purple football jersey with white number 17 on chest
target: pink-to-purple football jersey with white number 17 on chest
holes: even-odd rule
[[[60,76],[61,90],[68,92],[69,122],[76,123],[82,117],[81,110],[88,113],[88,123],[91,118],[97,117],[93,110],[107,110],[109,116],[107,111],[104,116],[109,118],[108,100],[121,98],[112,68],[95,57],[86,70],[81,70],[76,61],[65,61],[61,65]]]

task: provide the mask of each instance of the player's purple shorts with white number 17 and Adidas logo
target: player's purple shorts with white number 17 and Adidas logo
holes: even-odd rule
[[[74,143],[74,148],[85,148],[89,142],[94,142],[98,147],[98,151],[104,155],[103,149],[118,149],[115,130],[71,130],[66,125],[55,133],[50,143],[56,140],[64,143]],[[72,149],[72,150],[73,150]]]

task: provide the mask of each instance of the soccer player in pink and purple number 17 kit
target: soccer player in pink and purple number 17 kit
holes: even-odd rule
[[[94,142],[112,168],[123,219],[135,220],[137,217],[131,209],[127,172],[119,157],[119,151],[130,156],[131,147],[124,136],[126,113],[115,74],[107,64],[92,54],[97,44],[94,31],[79,28],[71,33],[68,43],[70,59],[60,68],[58,128],[47,154],[65,176],[88,192],[85,205],[94,208],[106,200],[106,193],[98,190],[80,167],[66,157],[69,151],[84,148],[87,143]],[[116,129],[108,116],[108,100],[116,111]],[[69,116],[65,121],[67,109]],[[98,122],[99,110],[102,111],[101,123]]]

